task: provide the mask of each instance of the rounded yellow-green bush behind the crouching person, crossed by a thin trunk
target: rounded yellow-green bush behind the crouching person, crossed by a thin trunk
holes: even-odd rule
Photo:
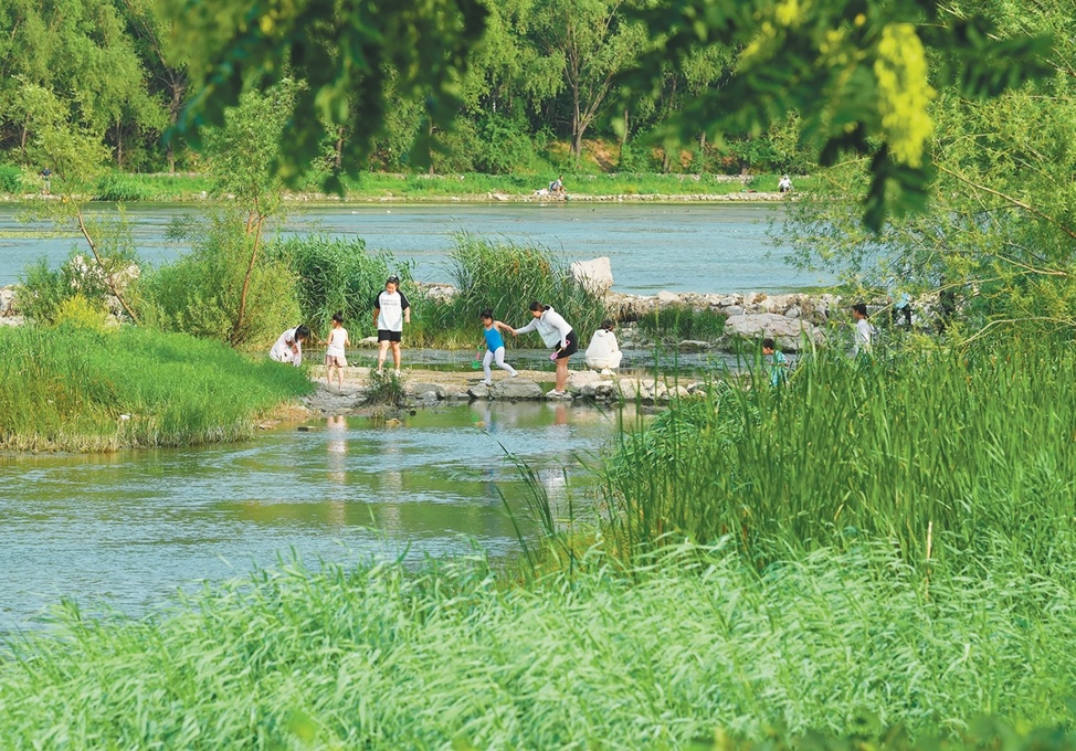
[[[232,341],[252,237],[233,216],[219,216],[190,253],[148,274],[140,285],[145,324],[197,337]],[[254,266],[238,347],[268,347],[302,321],[295,273],[262,253]]]

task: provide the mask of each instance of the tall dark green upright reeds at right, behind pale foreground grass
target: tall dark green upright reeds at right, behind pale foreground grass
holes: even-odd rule
[[[750,557],[882,538],[907,560],[1012,538],[1032,560],[1074,550],[1076,351],[993,342],[893,361],[806,358],[756,371],[625,433],[605,472],[608,535],[725,536]],[[939,546],[946,541],[949,547]]]

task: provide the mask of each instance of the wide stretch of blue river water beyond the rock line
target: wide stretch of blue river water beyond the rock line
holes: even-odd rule
[[[288,211],[283,234],[362,237],[370,250],[414,260],[422,282],[450,281],[445,255],[460,232],[535,242],[572,261],[609,256],[618,292],[780,293],[829,282],[784,263],[787,248],[767,236],[769,222],[783,211],[776,205],[381,204]],[[184,246],[166,236],[169,224],[199,212],[190,204],[128,207],[139,254],[150,263],[175,258]],[[72,247],[83,252],[73,235],[57,237],[45,226],[21,224],[17,209],[0,208],[0,285],[17,282],[25,265],[42,256],[62,262]]]

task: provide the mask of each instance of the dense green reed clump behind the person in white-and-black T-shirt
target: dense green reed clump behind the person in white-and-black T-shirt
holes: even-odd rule
[[[267,253],[295,274],[300,318],[320,337],[327,336],[337,311],[344,314],[352,340],[375,334],[373,298],[389,274],[400,276],[409,297],[415,294],[409,265],[397,268],[390,254],[367,253],[358,237],[291,237],[274,243]]]

